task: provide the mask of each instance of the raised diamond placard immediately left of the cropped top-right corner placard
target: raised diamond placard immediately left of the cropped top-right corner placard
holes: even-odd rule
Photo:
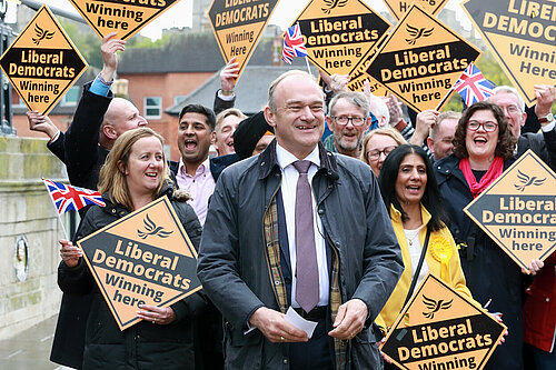
[[[413,4],[370,61],[367,73],[415,111],[440,110],[454,83],[480,53]]]

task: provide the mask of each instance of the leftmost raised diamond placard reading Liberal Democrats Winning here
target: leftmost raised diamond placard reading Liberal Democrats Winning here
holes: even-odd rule
[[[87,62],[52,12],[42,6],[0,58],[29,110],[48,114],[87,69]]]

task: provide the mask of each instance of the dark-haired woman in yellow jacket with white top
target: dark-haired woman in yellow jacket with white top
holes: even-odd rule
[[[401,312],[430,229],[425,260],[416,287],[430,272],[468,298],[459,254],[440,206],[440,193],[430,161],[418,146],[404,144],[387,157],[378,179],[386,208],[401,249],[405,270],[376,323],[389,329]],[[478,303],[477,303],[478,304]]]

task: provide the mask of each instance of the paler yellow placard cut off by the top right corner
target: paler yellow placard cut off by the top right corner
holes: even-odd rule
[[[467,0],[475,28],[526,104],[536,102],[534,84],[556,84],[556,1]]]

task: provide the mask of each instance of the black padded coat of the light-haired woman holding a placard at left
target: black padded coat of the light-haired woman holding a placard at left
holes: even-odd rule
[[[171,190],[170,191],[171,194]],[[165,193],[168,193],[165,192]],[[105,199],[107,206],[92,207],[81,221],[76,240],[129,214],[119,204]],[[193,209],[186,202],[171,199],[191,243],[198,248],[201,227]],[[193,318],[206,308],[206,298],[197,292],[171,306],[176,321],[168,326],[141,321],[120,331],[89,268],[81,259],[75,268],[61,262],[58,284],[66,294],[92,292],[87,319],[82,369],[196,369],[193,350]]]

